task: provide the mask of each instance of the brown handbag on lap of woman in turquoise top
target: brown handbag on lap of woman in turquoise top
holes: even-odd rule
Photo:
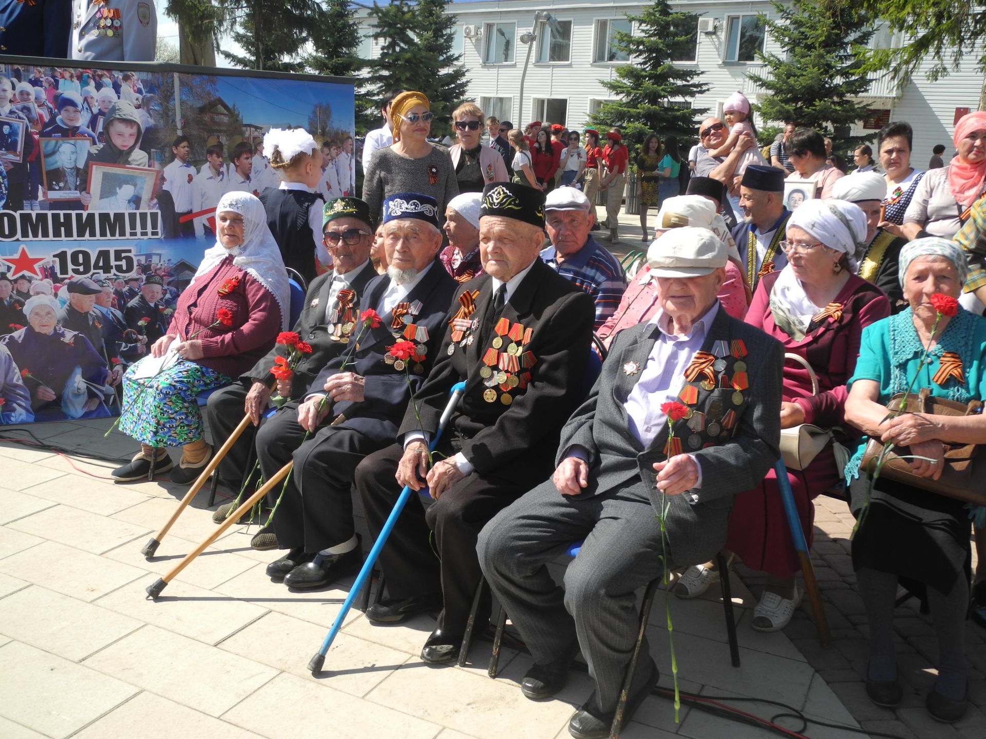
[[[900,408],[900,400],[904,393],[898,392],[886,404],[887,410],[896,412]],[[923,413],[928,416],[969,416],[978,413],[982,403],[970,400],[967,405],[946,398],[937,398],[931,390],[922,387],[919,393],[908,393],[904,405],[904,413]],[[869,473],[870,464],[880,456],[883,442],[871,437],[867,441],[860,462],[860,472]],[[909,459],[901,456],[910,454],[906,446],[894,446],[883,458],[880,477],[897,483],[911,485],[930,493],[938,493],[965,503],[986,505],[986,492],[983,491],[982,480],[986,476],[986,461],[978,454],[977,444],[945,444],[945,469],[938,480],[921,477],[911,471]],[[898,453],[899,452],[899,453]],[[980,481],[973,483],[973,480]]]

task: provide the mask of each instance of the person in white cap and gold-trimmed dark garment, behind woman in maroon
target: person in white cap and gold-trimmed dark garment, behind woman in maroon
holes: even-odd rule
[[[837,179],[832,186],[833,198],[856,203],[866,216],[866,238],[855,254],[858,274],[886,293],[890,310],[896,313],[907,307],[897,276],[900,250],[907,245],[907,239],[880,229],[885,196],[886,180],[875,171],[853,172],[853,176]]]

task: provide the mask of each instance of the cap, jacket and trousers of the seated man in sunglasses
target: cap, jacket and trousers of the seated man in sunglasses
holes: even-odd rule
[[[337,218],[359,218],[366,223],[370,233],[374,232],[370,206],[357,198],[339,198],[325,204],[322,211],[322,229]],[[326,272],[319,275],[309,286],[305,305],[297,322],[291,328],[301,336],[302,341],[312,347],[295,366],[291,380],[291,400],[300,400],[308,394],[312,381],[330,360],[335,359],[349,348],[349,338],[342,341],[343,326],[358,318],[358,308],[367,285],[377,277],[377,271],[367,259],[362,265],[339,275]],[[351,333],[351,332],[350,332]],[[205,417],[211,430],[213,445],[219,447],[224,439],[230,437],[243,417],[246,393],[254,381],[263,382],[268,387],[274,380],[270,373],[279,361],[287,358],[283,344],[275,344],[267,355],[252,370],[240,377],[240,382],[222,387],[209,396],[205,407]],[[261,421],[261,423],[266,423]],[[238,486],[248,463],[250,446],[253,444],[256,428],[247,426],[236,443],[219,463],[219,479],[229,485]]]

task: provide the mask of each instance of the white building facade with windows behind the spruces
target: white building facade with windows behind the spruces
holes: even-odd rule
[[[456,50],[466,68],[469,97],[486,115],[510,120],[515,126],[540,120],[581,129],[599,102],[611,98],[600,81],[615,79],[616,69],[628,63],[625,53],[614,46],[613,32],[637,33],[626,16],[639,15],[648,5],[599,0],[455,2],[450,12],[458,18]],[[755,103],[762,91],[746,74],[764,74],[766,69],[755,60],[754,51],[780,52],[758,20],[760,13],[773,15],[771,4],[677,0],[671,6],[698,16],[693,54],[677,63],[702,70],[705,74],[697,81],[710,86],[695,100],[675,102],[721,115],[723,102],[739,90]],[[550,14],[552,22],[535,22],[538,11]],[[379,55],[380,42],[369,37],[373,27],[366,11],[360,16],[365,36],[360,56],[374,58]],[[526,34],[533,39],[528,40]],[[871,44],[886,47],[893,42],[891,34],[880,29]],[[975,70],[975,58],[978,54],[937,83],[926,79],[924,68],[899,91],[892,81],[877,79],[863,99],[874,115],[853,134],[875,134],[888,121],[905,120],[914,128],[915,167],[926,166],[936,144],[947,147],[948,157],[954,121],[978,105],[982,76]]]

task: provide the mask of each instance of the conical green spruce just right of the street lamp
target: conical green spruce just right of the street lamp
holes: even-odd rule
[[[709,86],[695,80],[701,70],[675,66],[671,59],[688,58],[694,50],[695,19],[689,13],[671,10],[667,0],[657,0],[635,22],[634,35],[618,32],[616,43],[630,54],[630,64],[616,69],[614,80],[600,80],[619,98],[603,102],[591,122],[600,132],[618,127],[623,140],[641,145],[652,131],[661,136],[694,137],[705,109],[679,107]]]

